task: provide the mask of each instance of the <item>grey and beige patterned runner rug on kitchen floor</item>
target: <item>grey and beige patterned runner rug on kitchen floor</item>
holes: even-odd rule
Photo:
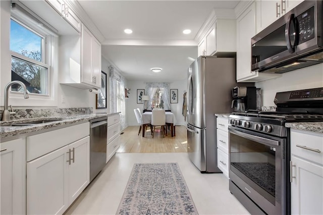
[[[177,163],[135,164],[117,214],[198,214]]]

